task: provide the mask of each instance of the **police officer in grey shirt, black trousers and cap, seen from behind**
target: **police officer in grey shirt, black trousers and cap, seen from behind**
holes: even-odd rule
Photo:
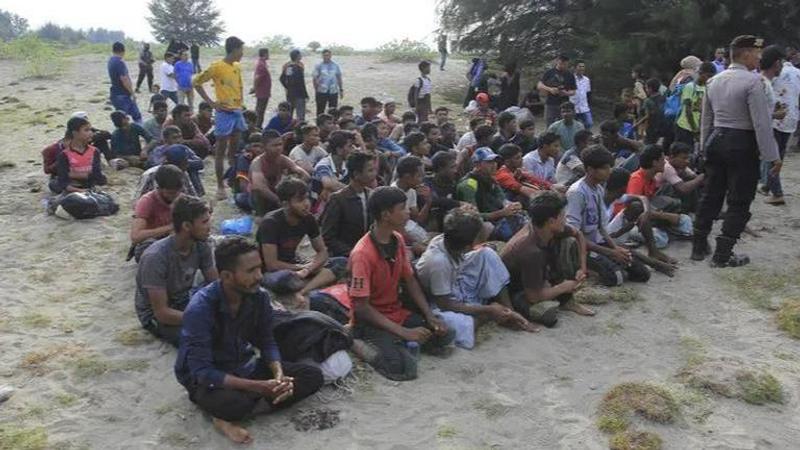
[[[733,246],[750,220],[750,203],[759,179],[759,158],[780,173],[781,160],[772,133],[772,111],[758,68],[764,40],[739,36],[731,42],[731,65],[709,80],[703,98],[700,142],[706,182],[695,221],[692,259],[711,254],[708,235],[727,198],[728,210],[711,258],[712,267],[750,262]]]

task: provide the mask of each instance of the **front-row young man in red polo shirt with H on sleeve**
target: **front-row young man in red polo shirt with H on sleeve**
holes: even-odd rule
[[[353,302],[353,336],[376,350],[367,363],[396,381],[417,377],[413,348],[441,352],[455,333],[433,315],[408,261],[402,231],[408,220],[406,196],[398,188],[382,186],[368,200],[375,225],[350,253],[348,293]],[[411,312],[398,296],[405,294],[419,309]]]

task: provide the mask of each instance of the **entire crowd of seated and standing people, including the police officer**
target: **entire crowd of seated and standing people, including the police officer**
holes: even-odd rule
[[[574,297],[589,277],[614,287],[646,283],[651,270],[673,276],[678,261],[664,249],[693,240],[692,259],[708,257],[725,199],[711,265],[746,264],[733,245],[759,178],[769,204],[784,202],[781,159],[800,99],[794,55],[762,47],[738,37],[713,61],[685,58],[669,83],[634,68],[597,134],[585,61],[570,67],[559,56],[520,99],[516,64],[498,79],[476,59],[461,135],[452,111],[432,105],[429,61],[410,80],[409,110],[364,97],[355,114],[339,105],[343,70],[324,50],[312,72],[316,117],[307,121],[299,50],[280,71],[286,99],[266,117],[272,85],[262,49],[255,110],[246,109],[244,44],[235,37],[198,73],[185,49],[168,51],[143,121],[134,93],[151,77],[145,67],[134,87],[116,43],[115,130],[74,114],[65,137],[43,151],[44,170],[58,195],[103,185],[103,159],[145,169],[130,230],[137,316],[178,348],[175,375],[190,399],[226,436],[247,442],[241,420],[345,376],[345,350],[386,378],[412,380],[420,351],[471,349],[483,324],[537,332],[565,312],[594,315]],[[140,67],[152,64],[149,51]],[[207,157],[217,198],[254,216],[254,240],[209,239]]]

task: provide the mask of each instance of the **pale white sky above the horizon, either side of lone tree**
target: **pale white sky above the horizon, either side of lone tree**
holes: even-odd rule
[[[122,30],[136,40],[152,40],[147,0],[0,0],[0,9],[28,19],[31,28],[47,22],[73,28]],[[226,25],[223,38],[247,43],[284,34],[298,46],[311,41],[371,49],[392,39],[435,41],[435,0],[217,0]]]

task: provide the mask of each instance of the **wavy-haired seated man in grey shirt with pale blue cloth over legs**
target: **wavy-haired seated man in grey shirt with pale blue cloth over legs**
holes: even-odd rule
[[[455,330],[455,344],[466,349],[475,346],[475,331],[487,322],[537,330],[511,307],[503,261],[491,248],[476,247],[482,231],[477,212],[455,209],[444,219],[444,234],[431,240],[416,263],[422,288]]]

